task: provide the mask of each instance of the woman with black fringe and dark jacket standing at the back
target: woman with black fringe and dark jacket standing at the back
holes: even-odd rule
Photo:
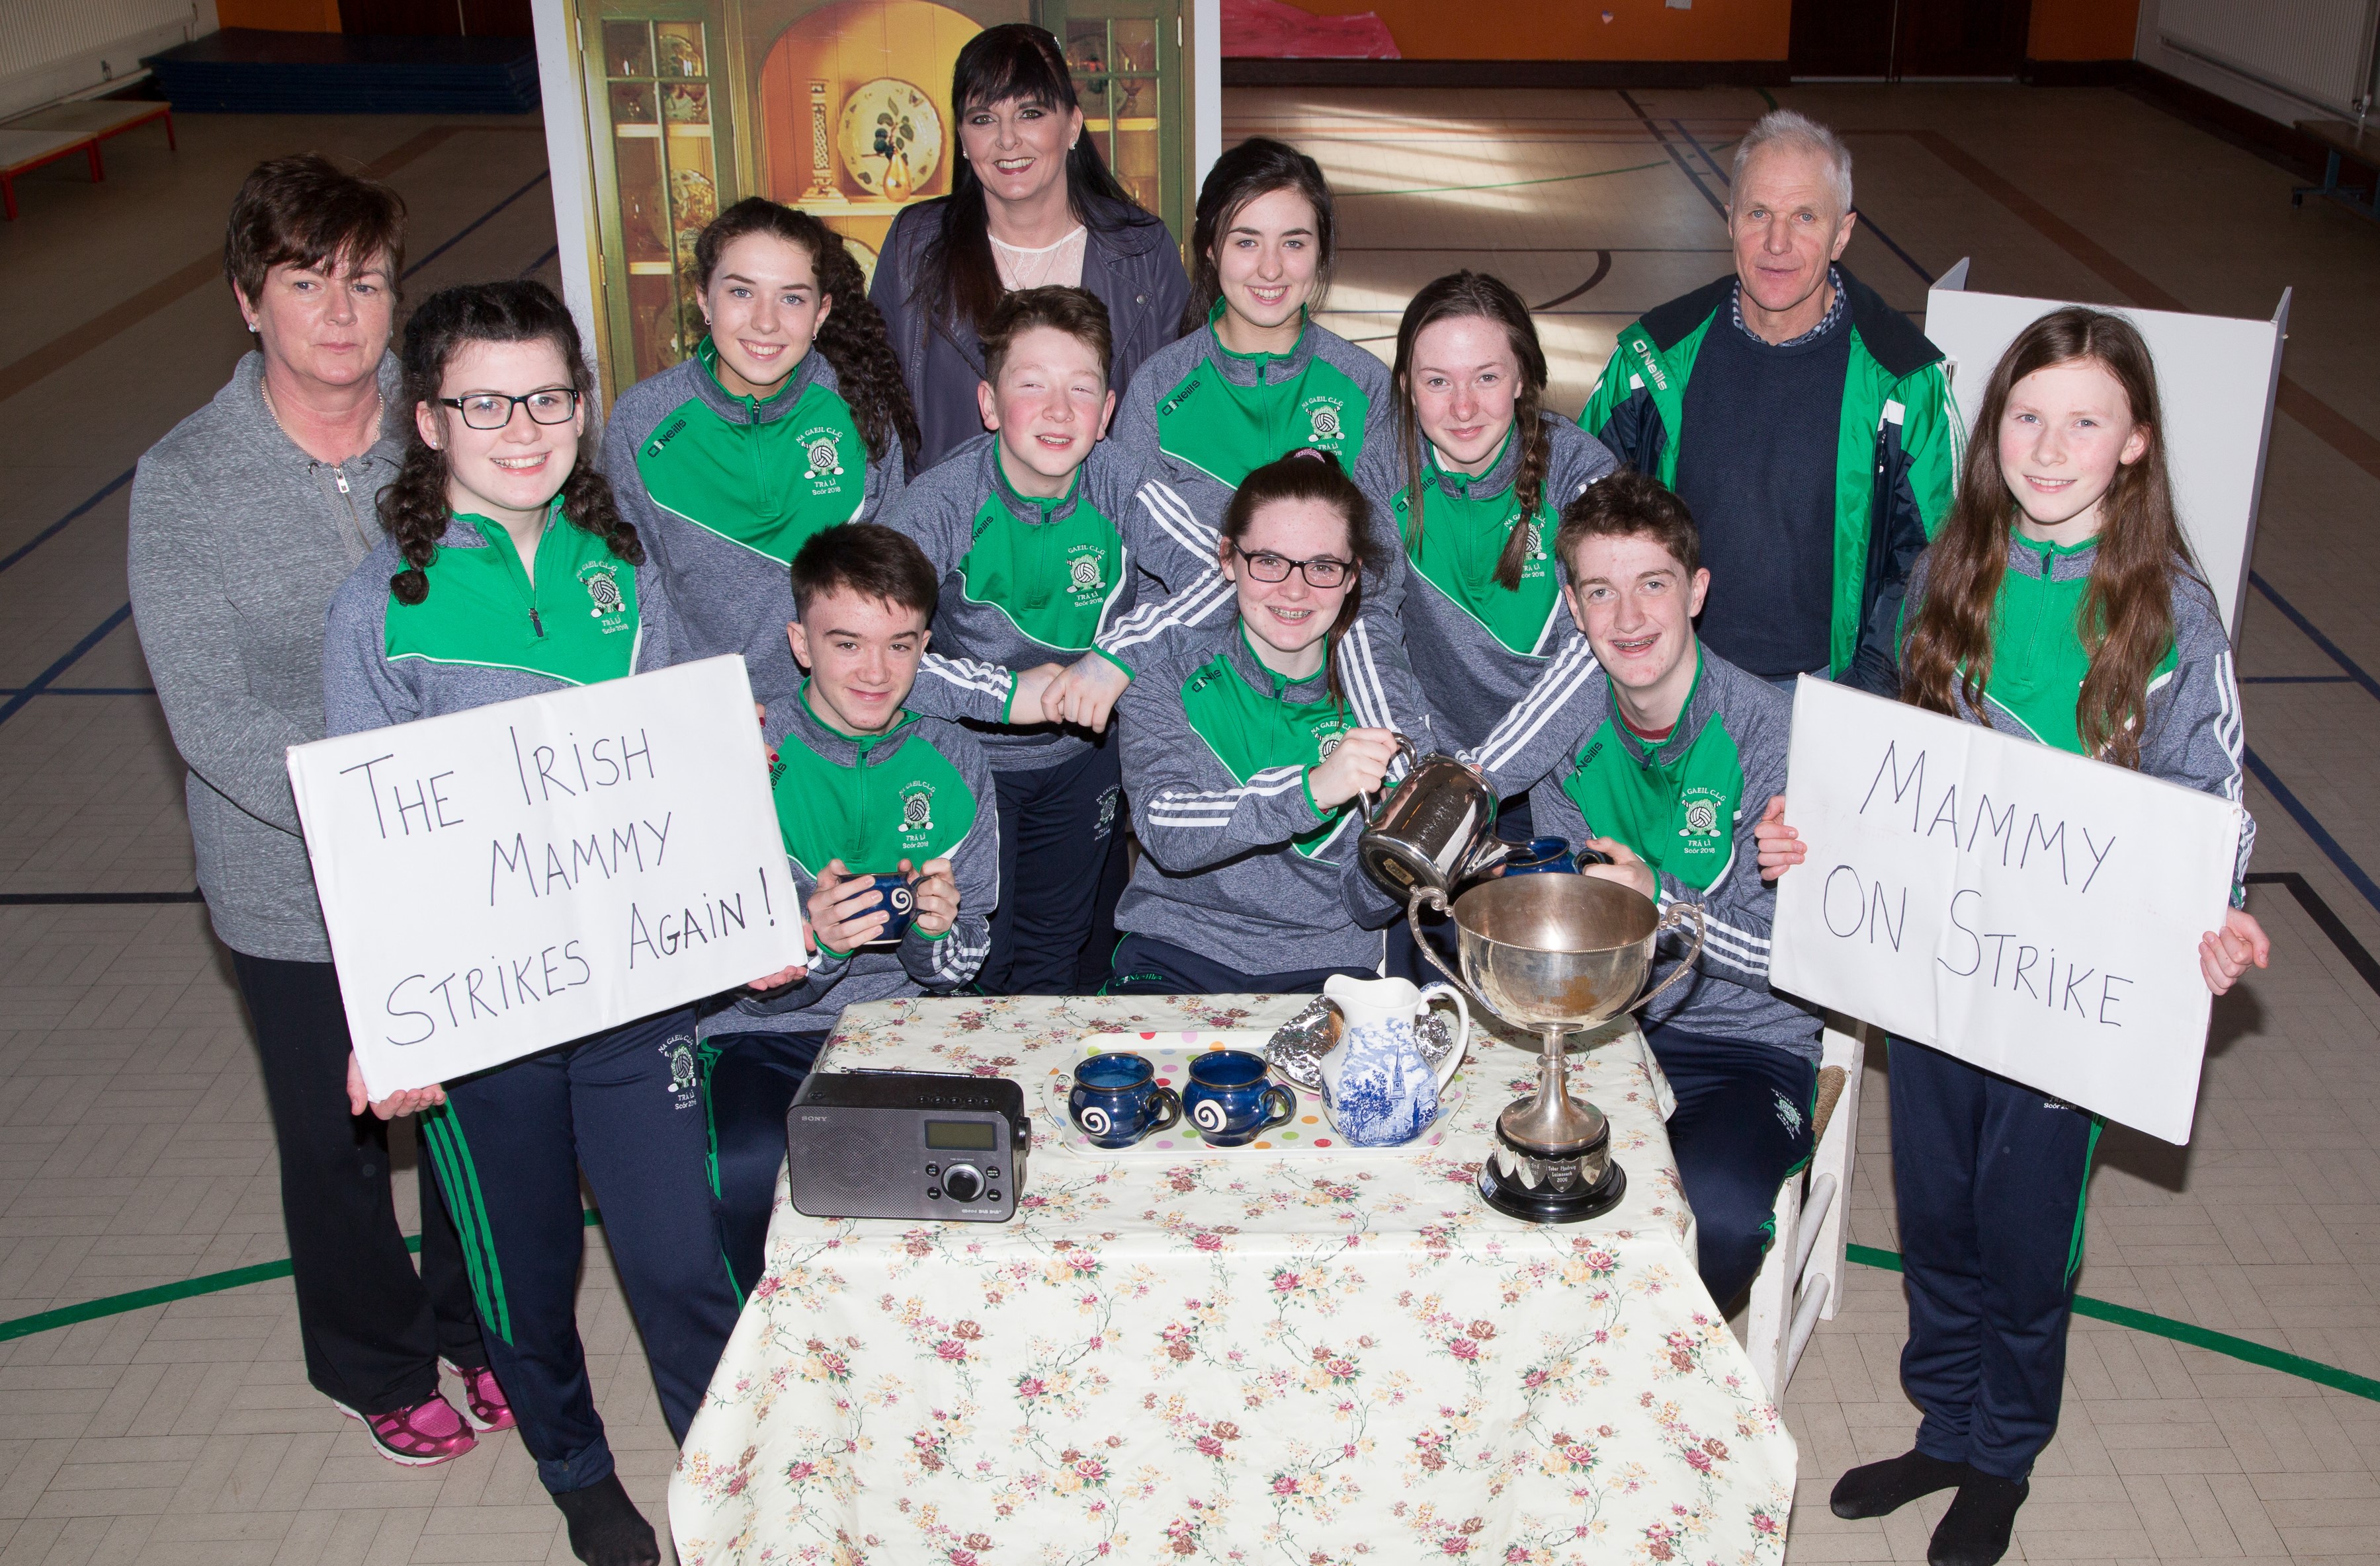
[[[1107,305],[1109,386],[1180,336],[1190,283],[1166,226],[1083,133],[1066,55],[1028,21],[966,40],[950,74],[959,159],[950,195],[892,219],[871,290],[916,402],[919,469],[983,433],[981,331],[1016,288],[1085,288]]]

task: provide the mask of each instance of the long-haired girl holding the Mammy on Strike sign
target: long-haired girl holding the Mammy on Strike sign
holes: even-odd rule
[[[2068,305],[2021,331],[1985,383],[1959,497],[1909,578],[1902,700],[2240,802],[2240,683],[2175,521],[2163,440],[2140,328]],[[1771,878],[1806,854],[1783,797],[1759,840]],[[2254,840],[2242,814],[2230,909],[2199,940],[2216,995],[2273,950],[2244,909]],[[2059,1426],[2097,1145],[2099,1116],[1892,1040],[1902,1385],[1923,1418],[1911,1452],[1835,1483],[1835,1516],[1956,1485],[1928,1559],[1990,1566],[2006,1552]]]

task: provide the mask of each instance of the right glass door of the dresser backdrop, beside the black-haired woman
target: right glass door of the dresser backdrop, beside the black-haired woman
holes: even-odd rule
[[[1190,238],[1190,164],[1183,145],[1188,71],[1180,0],[1047,0],[1038,19],[1066,45],[1083,133],[1133,200]]]

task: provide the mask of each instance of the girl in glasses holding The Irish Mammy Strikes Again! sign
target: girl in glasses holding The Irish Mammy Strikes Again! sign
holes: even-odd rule
[[[405,328],[407,445],[388,540],[331,600],[328,731],[355,733],[624,678],[683,652],[662,571],[583,462],[593,378],[543,283],[424,300]],[[374,1109],[421,1114],[521,1445],[595,1566],[659,1561],[612,1471],[578,1342],[585,1171],[662,1414],[685,1440],[735,1290],[714,1242],[693,1009]],[[350,1061],[347,1097],[364,1109]]]

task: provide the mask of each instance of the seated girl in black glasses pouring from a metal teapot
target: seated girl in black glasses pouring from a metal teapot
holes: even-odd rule
[[[1376,564],[1366,524],[1328,452],[1233,493],[1216,564],[1235,612],[1164,633],[1123,693],[1142,857],[1107,995],[1311,995],[1380,971],[1395,904],[1357,869],[1357,795],[1380,788],[1397,740],[1361,726],[1330,657]]]

